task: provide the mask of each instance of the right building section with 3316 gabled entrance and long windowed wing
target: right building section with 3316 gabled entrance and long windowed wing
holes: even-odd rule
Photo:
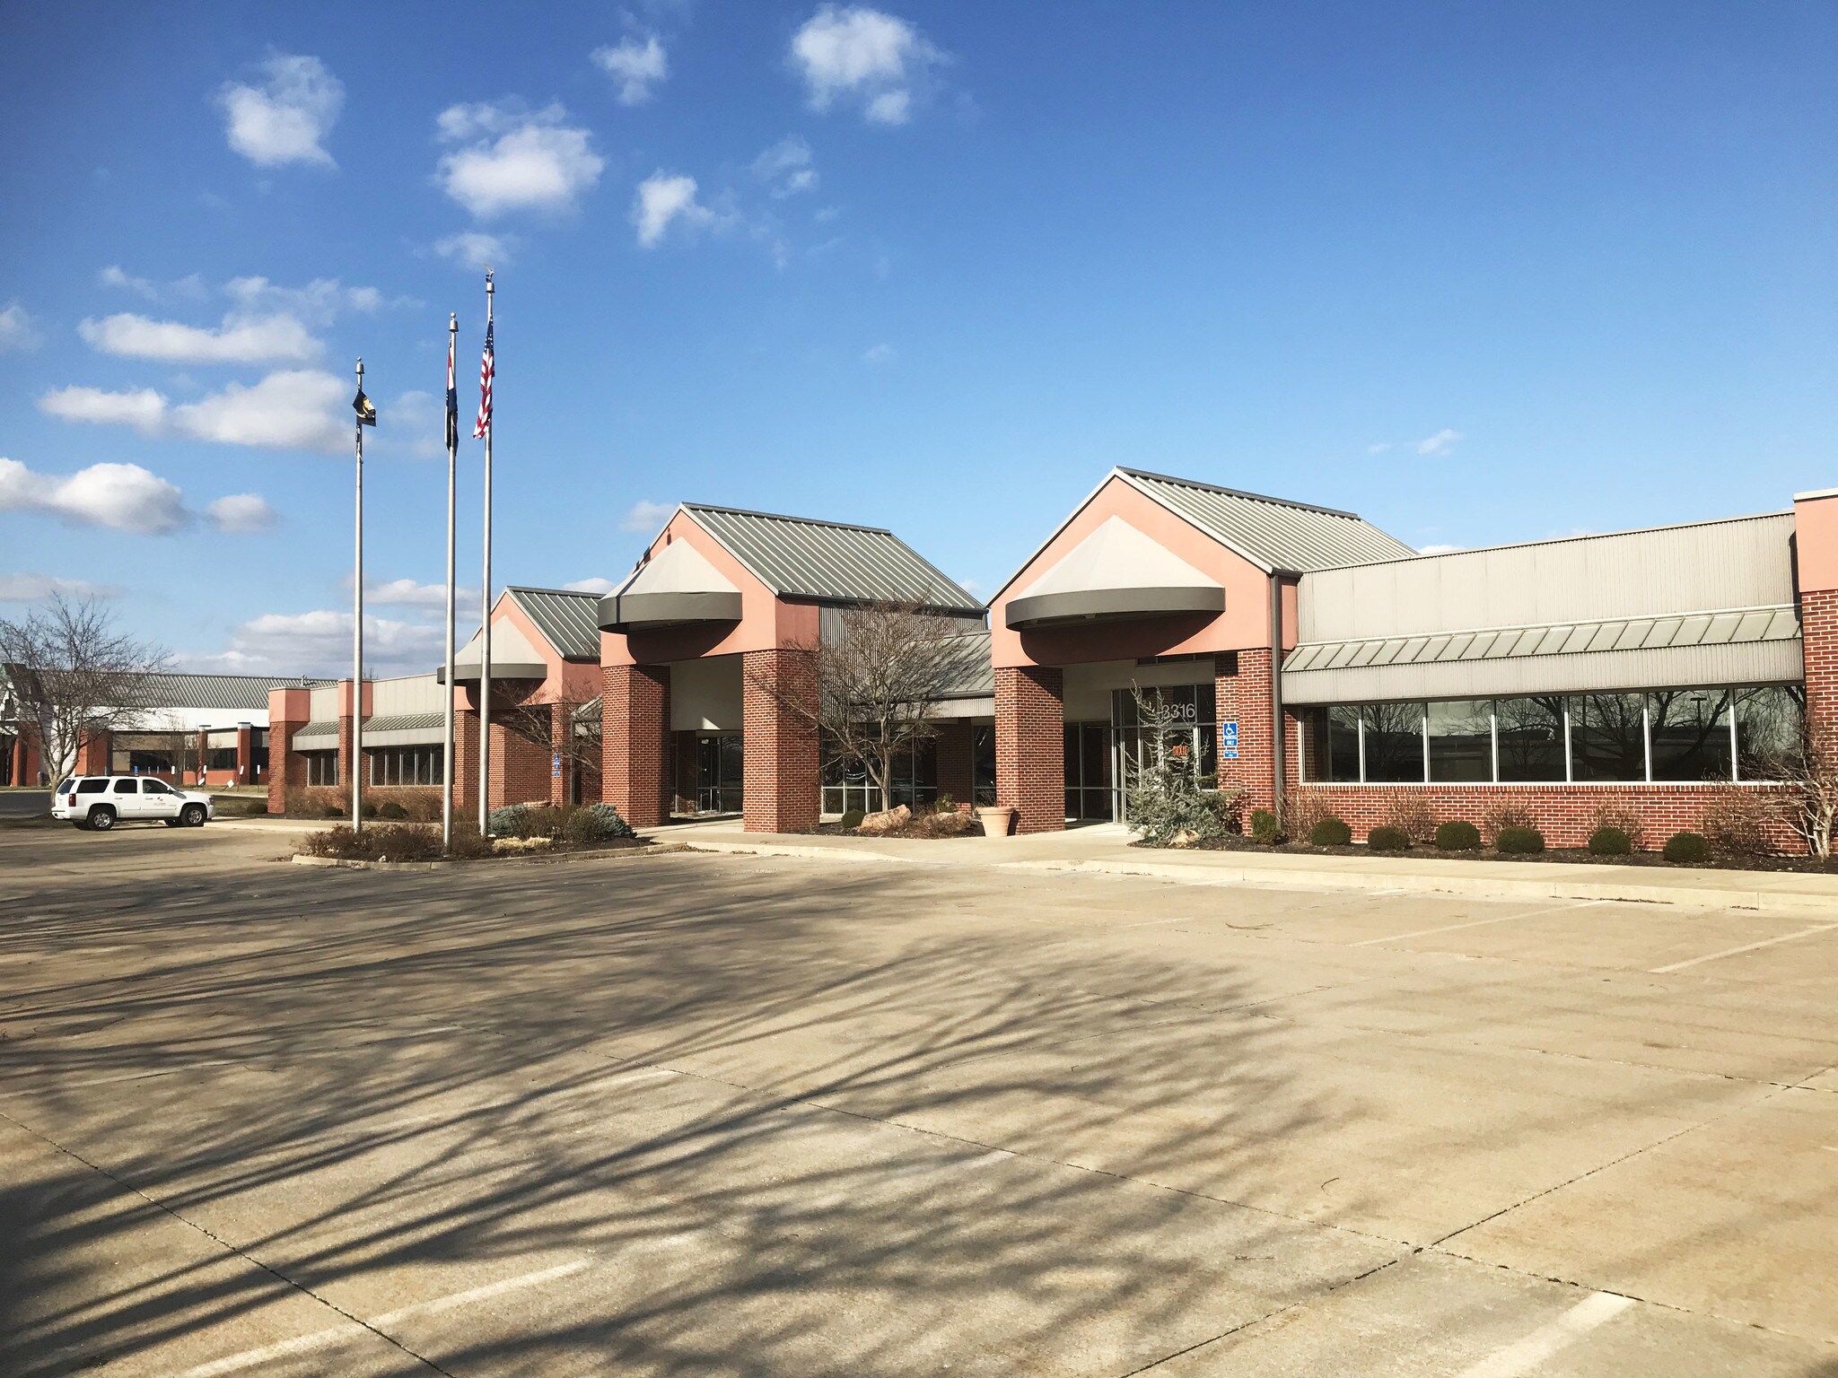
[[[1220,785],[1265,808],[1309,792],[1355,836],[1406,792],[1439,818],[1511,807],[1557,843],[1614,801],[1665,836],[1766,788],[1805,715],[1838,722],[1838,491],[1419,555],[1351,513],[1118,469],[991,612],[1024,830],[1121,816],[1140,687],[1189,713]]]

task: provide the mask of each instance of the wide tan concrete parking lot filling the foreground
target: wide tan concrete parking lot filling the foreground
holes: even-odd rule
[[[287,841],[0,830],[0,1371],[1838,1374],[1838,915]]]

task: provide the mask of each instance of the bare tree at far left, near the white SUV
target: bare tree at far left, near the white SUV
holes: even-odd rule
[[[77,768],[85,739],[140,724],[165,652],[118,632],[96,599],[53,593],[42,610],[0,619],[0,665],[55,781]]]

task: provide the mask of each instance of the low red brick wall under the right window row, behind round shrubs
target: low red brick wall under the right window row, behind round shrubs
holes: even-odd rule
[[[1399,797],[1423,801],[1437,823],[1463,819],[1481,827],[1489,810],[1511,807],[1531,814],[1531,823],[1551,847],[1581,847],[1595,830],[1603,805],[1632,808],[1645,829],[1643,845],[1658,851],[1674,832],[1700,832],[1704,810],[1735,785],[1303,785],[1310,799],[1353,829],[1355,841],[1386,821]],[[1805,845],[1787,823],[1768,829],[1776,851],[1801,853]]]

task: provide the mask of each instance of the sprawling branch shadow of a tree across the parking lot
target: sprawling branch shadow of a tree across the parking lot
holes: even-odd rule
[[[551,1270],[386,1328],[452,1372],[1129,1372],[1395,1255],[1230,1203],[1342,1113],[1239,974],[978,906],[693,856],[50,897],[0,987],[0,1367]]]

